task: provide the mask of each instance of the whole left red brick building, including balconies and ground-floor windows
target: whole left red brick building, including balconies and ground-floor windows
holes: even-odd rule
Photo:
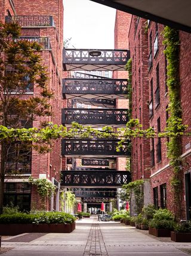
[[[49,74],[48,89],[54,92],[51,100],[53,116],[37,118],[33,121],[33,127],[39,127],[42,121],[50,121],[61,124],[61,80],[62,80],[62,50],[63,50],[63,3],[61,0],[30,1],[30,0],[2,0],[0,5],[0,20],[5,22],[5,16],[16,19],[21,26],[21,36],[30,40],[46,42],[41,52],[43,64]],[[16,16],[16,18],[14,18]],[[32,92],[26,93],[27,97],[39,94],[35,87]],[[59,180],[61,170],[60,141],[55,141],[52,152],[43,155],[32,151],[32,159],[29,168],[21,177],[8,179],[5,184],[4,203],[13,202],[19,204],[21,209],[59,209]],[[27,183],[29,176],[35,179],[45,178],[57,184],[57,194],[42,204],[35,186]],[[24,182],[23,182],[24,180]]]

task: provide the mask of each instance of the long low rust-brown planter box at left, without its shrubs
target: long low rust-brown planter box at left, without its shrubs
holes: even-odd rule
[[[76,228],[72,224],[0,224],[1,236],[16,236],[22,233],[70,233]]]

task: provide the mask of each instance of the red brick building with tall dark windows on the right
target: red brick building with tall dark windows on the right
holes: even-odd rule
[[[164,25],[131,16],[124,22],[124,16],[118,15],[121,31],[117,38],[119,43],[130,49],[132,59],[133,118],[138,118],[143,129],[155,128],[164,131],[168,119],[168,87],[167,59],[164,55],[165,46],[162,31]],[[127,28],[130,27],[127,40]],[[190,128],[190,34],[179,32],[180,37],[180,95],[183,110],[183,124]],[[124,38],[124,40],[123,40]],[[188,129],[189,129],[188,128]],[[174,192],[171,186],[173,170],[167,158],[168,138],[151,138],[149,140],[133,138],[132,143],[132,176],[133,180],[150,179],[150,192],[147,183],[147,199],[156,207],[167,207],[179,218],[190,219],[190,137],[183,136],[181,150],[183,165],[181,166],[181,209],[174,203]],[[149,202],[147,200],[147,202]]]

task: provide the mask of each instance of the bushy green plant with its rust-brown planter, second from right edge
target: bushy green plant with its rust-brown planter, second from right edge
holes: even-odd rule
[[[159,209],[149,221],[149,234],[170,237],[174,228],[174,215],[167,209]]]

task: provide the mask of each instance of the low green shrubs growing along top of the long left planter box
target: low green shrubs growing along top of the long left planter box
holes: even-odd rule
[[[44,212],[36,214],[16,213],[0,215],[0,224],[70,224],[75,221],[75,217],[63,212]]]

